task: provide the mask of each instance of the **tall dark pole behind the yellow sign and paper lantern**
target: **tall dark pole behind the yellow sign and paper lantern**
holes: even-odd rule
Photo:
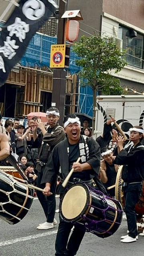
[[[59,0],[59,23],[57,44],[65,44],[65,19],[61,18],[66,9],[67,1]],[[66,71],[63,68],[53,69],[53,91],[52,106],[59,109],[59,124],[63,125],[63,116],[65,111],[65,87],[66,87]]]

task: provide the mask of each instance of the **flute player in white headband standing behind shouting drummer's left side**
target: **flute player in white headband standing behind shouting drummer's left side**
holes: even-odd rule
[[[45,184],[41,185],[41,180],[43,177],[43,172],[45,166],[49,159],[50,153],[61,140],[65,139],[65,132],[63,127],[59,126],[59,110],[57,108],[51,107],[47,110],[47,126],[43,122],[36,121],[37,126],[32,126],[34,144],[33,147],[39,148],[36,170],[38,171],[37,177],[37,187],[44,188]],[[37,135],[37,128],[41,129],[39,135]],[[37,229],[47,230],[54,228],[57,224],[55,217],[55,184],[51,188],[53,195],[47,197],[43,195],[43,192],[37,191],[37,197],[43,207],[46,222],[40,224]]]

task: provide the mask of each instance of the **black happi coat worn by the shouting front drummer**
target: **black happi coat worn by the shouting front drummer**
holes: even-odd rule
[[[89,148],[89,155],[86,156],[86,163],[91,165],[91,170],[84,170],[83,173],[87,173],[86,177],[89,177],[90,175],[98,176],[99,174],[99,168],[100,168],[100,148],[97,142],[93,138],[86,137],[86,140],[84,140],[84,137],[81,135],[79,139],[79,144],[84,143],[87,144]],[[62,179],[65,179],[69,173],[69,156],[68,156],[68,148],[69,148],[69,142],[68,138],[61,141],[59,144],[55,146],[53,149],[51,156],[49,158],[49,161],[45,167],[45,171],[43,173],[43,178],[41,183],[51,183],[53,184],[57,178],[57,175],[59,175],[59,169],[60,176]],[[80,154],[79,154],[80,156]],[[83,162],[83,163],[85,163]],[[81,163],[81,162],[80,162]],[[81,173],[82,173],[81,172]],[[78,173],[78,172],[77,172]],[[81,178],[81,176],[80,176]],[[85,180],[85,179],[84,179]]]

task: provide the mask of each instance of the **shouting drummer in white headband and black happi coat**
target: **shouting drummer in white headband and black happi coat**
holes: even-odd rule
[[[61,170],[61,182],[57,188],[59,189],[57,193],[60,194],[60,199],[63,192],[67,189],[62,187],[62,182],[72,168],[74,168],[74,172],[69,179],[68,187],[74,183],[74,178],[81,179],[82,182],[91,185],[92,180],[90,175],[98,177],[100,167],[100,147],[93,138],[80,135],[81,123],[79,118],[74,114],[67,116],[64,122],[64,129],[67,134],[67,139],[61,141],[53,149],[42,180],[43,183],[46,183],[44,193],[45,195],[49,195],[51,186],[55,183],[55,179],[59,174],[59,169]],[[79,163],[76,163],[79,157],[81,160]],[[75,226],[69,238],[72,228],[73,223],[67,223],[60,217],[55,243],[55,256],[76,255],[85,231]]]

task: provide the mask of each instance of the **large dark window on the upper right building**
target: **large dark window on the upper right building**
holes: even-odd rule
[[[128,65],[143,69],[144,35],[130,28],[119,26],[119,36],[123,40]]]

